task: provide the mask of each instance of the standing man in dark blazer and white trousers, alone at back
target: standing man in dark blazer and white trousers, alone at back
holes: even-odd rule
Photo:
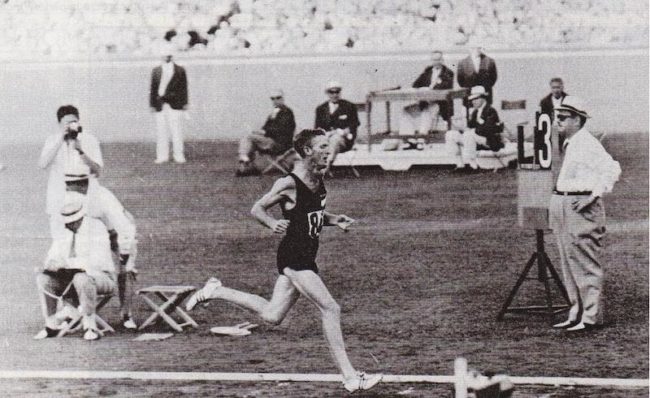
[[[185,68],[173,61],[171,46],[163,50],[163,62],[153,68],[149,106],[156,114],[156,163],[169,161],[169,140],[173,158],[185,163],[181,117],[187,110],[187,75]]]

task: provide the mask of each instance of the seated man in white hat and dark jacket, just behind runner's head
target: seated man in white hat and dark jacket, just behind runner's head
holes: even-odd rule
[[[360,123],[356,105],[341,99],[340,83],[330,81],[325,92],[329,99],[316,108],[315,126],[327,132],[330,154],[326,171],[329,171],[337,154],[352,149]]]

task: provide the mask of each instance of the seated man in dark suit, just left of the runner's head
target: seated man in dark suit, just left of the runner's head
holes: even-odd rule
[[[296,120],[291,108],[284,104],[284,93],[276,90],[271,93],[273,111],[261,130],[253,131],[239,142],[239,168],[237,176],[259,174],[253,160],[255,153],[279,155],[293,145]]]

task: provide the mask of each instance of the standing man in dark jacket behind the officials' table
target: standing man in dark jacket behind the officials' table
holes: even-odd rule
[[[458,64],[458,84],[463,88],[483,86],[487,93],[487,102],[492,104],[492,87],[497,81],[497,65],[494,60],[483,53],[479,46],[472,47],[469,55]],[[469,109],[469,100],[464,105]]]

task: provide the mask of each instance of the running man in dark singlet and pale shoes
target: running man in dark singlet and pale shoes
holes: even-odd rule
[[[279,325],[298,297],[305,296],[321,312],[325,339],[343,374],[344,387],[350,392],[367,390],[379,383],[382,376],[357,372],[350,363],[341,332],[341,309],[318,276],[315,261],[322,227],[338,226],[346,230],[354,220],[325,211],[323,173],[330,154],[325,132],[302,130],[293,145],[300,156],[293,173],[277,180],[251,210],[262,225],[276,234],[285,234],[278,248],[280,276],[271,300],[224,287],[218,279],[210,278],[190,297],[187,310],[207,300],[222,299],[256,312],[268,323]],[[281,207],[284,219],[275,219],[269,213],[276,205]]]

